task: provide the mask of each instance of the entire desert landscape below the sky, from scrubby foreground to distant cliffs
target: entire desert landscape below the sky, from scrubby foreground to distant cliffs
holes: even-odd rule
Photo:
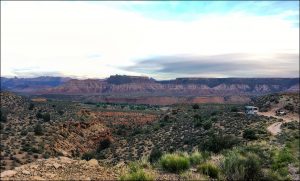
[[[1,81],[3,180],[299,179],[299,79]]]

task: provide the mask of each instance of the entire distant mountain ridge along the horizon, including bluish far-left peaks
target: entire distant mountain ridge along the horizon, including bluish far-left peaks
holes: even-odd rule
[[[4,78],[1,89],[32,94],[136,96],[230,96],[299,91],[299,78],[177,78],[114,75],[107,79]]]

